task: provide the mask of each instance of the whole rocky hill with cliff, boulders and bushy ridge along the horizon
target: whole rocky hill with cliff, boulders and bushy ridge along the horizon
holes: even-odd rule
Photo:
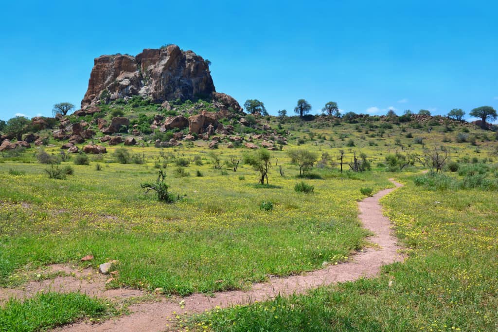
[[[424,139],[425,142],[430,139],[431,143],[473,144],[479,139],[483,142],[494,139],[486,134],[489,131],[478,128],[493,130],[493,127],[469,124],[461,121],[462,115],[456,114],[456,118],[452,115],[454,111],[464,114],[462,110],[452,110],[448,117],[432,117],[428,111],[424,114],[408,112],[399,117],[353,112],[340,115],[337,104],[330,102],[329,106],[337,109],[336,114],[329,111],[328,116],[304,115],[311,109],[308,105],[299,117],[287,117],[285,110],[279,111],[278,117],[272,117],[267,115],[262,102],[248,100],[245,107],[250,114],[246,114],[237,100],[216,92],[209,64],[209,60],[192,51],[183,51],[177,45],[144,49],[135,57],[102,55],[95,59],[80,110],[67,115],[73,105],[60,103],[54,106],[55,118],[35,117],[31,121],[14,118],[15,121],[6,126],[8,130],[0,127],[3,133],[0,151],[30,148],[34,143],[37,146],[60,144],[69,153],[83,149],[100,154],[106,153],[106,146],[166,148],[196,140],[205,141],[198,145],[210,149],[222,145],[281,150],[290,139],[295,139],[297,144],[304,142],[305,138],[299,137],[300,131],[308,131],[311,141],[319,135],[321,143],[329,141],[331,148],[378,146],[377,141],[384,136],[394,140],[396,150],[410,148],[412,143],[420,144]],[[300,101],[307,104],[304,99],[298,104]],[[473,133],[467,134],[469,130]],[[452,131],[461,133],[450,137]],[[443,137],[437,133],[447,134]],[[418,137],[412,138],[412,135]],[[337,138],[344,144],[330,143]],[[356,143],[351,142],[353,140]],[[85,146],[77,146],[82,144]]]

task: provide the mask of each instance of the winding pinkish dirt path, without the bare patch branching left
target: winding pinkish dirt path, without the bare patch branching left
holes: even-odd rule
[[[402,186],[393,179],[389,180],[396,187]],[[92,325],[87,322],[77,323],[65,326],[57,331],[171,331],[174,325],[170,324],[170,322],[173,323],[177,315],[202,313],[217,306],[224,308],[236,304],[269,300],[278,294],[300,294],[322,285],[352,281],[360,277],[373,277],[380,271],[382,265],[403,260],[402,255],[397,252],[400,249],[396,245],[397,240],[390,234],[389,219],[382,215],[381,206],[378,202],[382,196],[393,190],[394,188],[381,190],[373,197],[365,198],[359,202],[359,218],[365,228],[375,234],[369,238],[374,248],[367,248],[356,253],[353,256],[354,260],[351,262],[331,265],[299,276],[271,278],[266,283],[252,285],[251,290],[247,292],[221,292],[215,293],[213,297],[193,294],[183,299],[162,299],[153,303],[132,305],[129,307],[132,312],[129,316],[109,320],[99,325]]]

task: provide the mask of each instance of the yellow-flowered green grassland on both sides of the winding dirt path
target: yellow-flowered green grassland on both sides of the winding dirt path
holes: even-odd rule
[[[150,117],[154,111],[149,105],[127,116]],[[338,125],[319,119],[279,123],[269,118],[269,123],[290,135],[282,151],[271,152],[267,186],[258,185],[257,171],[242,162],[236,172],[227,165],[215,169],[203,141],[167,149],[142,141],[143,146],[125,147],[131,164],[120,164],[114,156],[122,145],[107,146],[109,153],[89,156],[88,166],[75,165],[75,156],[62,162],[61,167],[71,166],[74,171],[63,180],[48,178],[45,169],[50,166],[36,162],[39,148],[2,154],[0,286],[21,286],[31,278],[28,272],[48,264],[88,266],[80,259],[93,255],[94,267],[119,261],[119,278],[108,285],[111,288],[162,288],[166,295],[181,296],[248,289],[270,276],[298,274],[320,268],[325,261],[349,259],[367,245],[369,235],[357,217],[357,201],[365,197],[361,189],[376,192],[392,187],[387,179],[396,177],[407,185],[385,197],[383,204],[407,247],[405,263],[385,266],[371,280],[216,310],[194,318],[191,327],[213,331],[498,328],[494,133],[454,122],[420,126],[365,120]],[[60,143],[49,143],[57,146],[45,151],[59,155]],[[222,163],[232,158],[242,161],[249,152],[243,147],[227,149],[226,144],[214,150]],[[447,178],[424,177],[415,185],[416,174],[427,165],[412,159],[399,171],[399,164],[389,165],[386,159],[396,154],[396,158],[422,157],[424,149],[440,146],[461,169],[487,168],[486,179],[448,171]],[[299,167],[288,156],[297,149],[320,157],[307,178],[298,178]],[[337,164],[341,150],[345,152],[342,174]],[[364,154],[372,170],[348,171],[354,153]],[[171,192],[184,198],[166,204],[153,193],[144,194],[140,183],[155,180],[159,168],[166,171]],[[480,184],[474,186],[477,180]],[[301,181],[314,186],[314,192],[294,191]],[[271,202],[272,209],[261,209],[263,202]],[[20,331],[103,315],[101,302],[78,295],[52,294],[1,306],[0,319],[8,322],[22,317],[30,306],[53,308],[49,311],[53,315]],[[74,311],[59,318],[57,312],[65,307]]]

